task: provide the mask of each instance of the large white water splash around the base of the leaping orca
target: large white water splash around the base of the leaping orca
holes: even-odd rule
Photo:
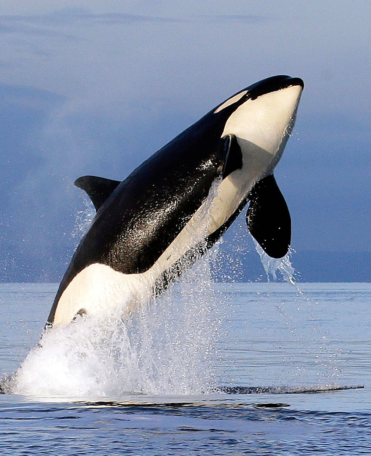
[[[125,320],[115,311],[44,332],[10,389],[36,397],[207,392],[215,388],[217,304],[206,256]]]

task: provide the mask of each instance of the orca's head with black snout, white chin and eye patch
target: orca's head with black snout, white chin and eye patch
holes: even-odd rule
[[[290,136],[303,88],[300,78],[280,75],[236,93],[213,111],[224,123],[222,137],[235,135],[243,155],[261,151],[270,157],[264,172],[270,174]]]

